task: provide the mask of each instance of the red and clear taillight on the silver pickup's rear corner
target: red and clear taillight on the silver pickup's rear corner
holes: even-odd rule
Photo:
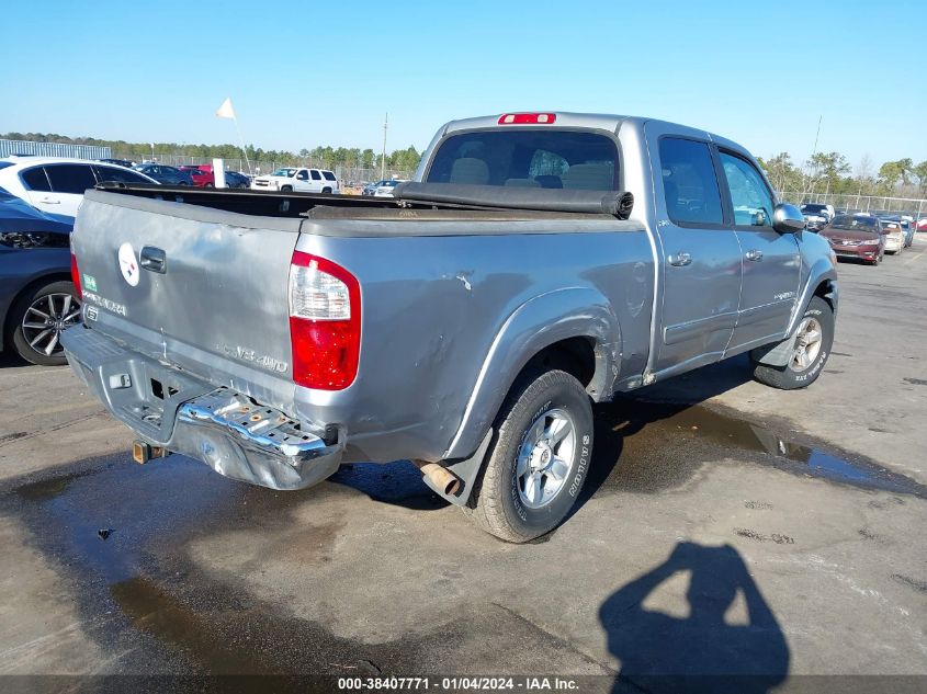
[[[361,287],[340,265],[295,251],[290,265],[290,342],[293,380],[341,390],[358,375]]]

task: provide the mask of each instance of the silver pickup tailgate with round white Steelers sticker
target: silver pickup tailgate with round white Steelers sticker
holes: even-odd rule
[[[72,235],[86,325],[217,385],[279,394],[301,224],[89,191]]]

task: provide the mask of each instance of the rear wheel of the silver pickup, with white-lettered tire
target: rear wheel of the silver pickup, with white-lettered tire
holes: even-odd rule
[[[506,542],[550,533],[579,497],[591,452],[592,406],[583,385],[563,371],[523,375],[496,419],[487,463],[465,511]]]

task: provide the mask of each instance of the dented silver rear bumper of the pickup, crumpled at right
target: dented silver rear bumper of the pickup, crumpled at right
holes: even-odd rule
[[[170,368],[80,326],[61,335],[68,362],[120,421],[146,442],[271,489],[302,489],[332,475],[343,432],[308,431],[284,412]]]

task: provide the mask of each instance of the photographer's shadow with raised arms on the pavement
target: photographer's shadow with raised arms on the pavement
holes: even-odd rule
[[[648,595],[680,572],[691,573],[688,616],[645,608]],[[732,624],[736,612],[741,623]],[[759,694],[789,672],[785,637],[730,545],[679,543],[660,566],[612,593],[599,619],[621,661],[613,692],[632,684],[647,692]]]

